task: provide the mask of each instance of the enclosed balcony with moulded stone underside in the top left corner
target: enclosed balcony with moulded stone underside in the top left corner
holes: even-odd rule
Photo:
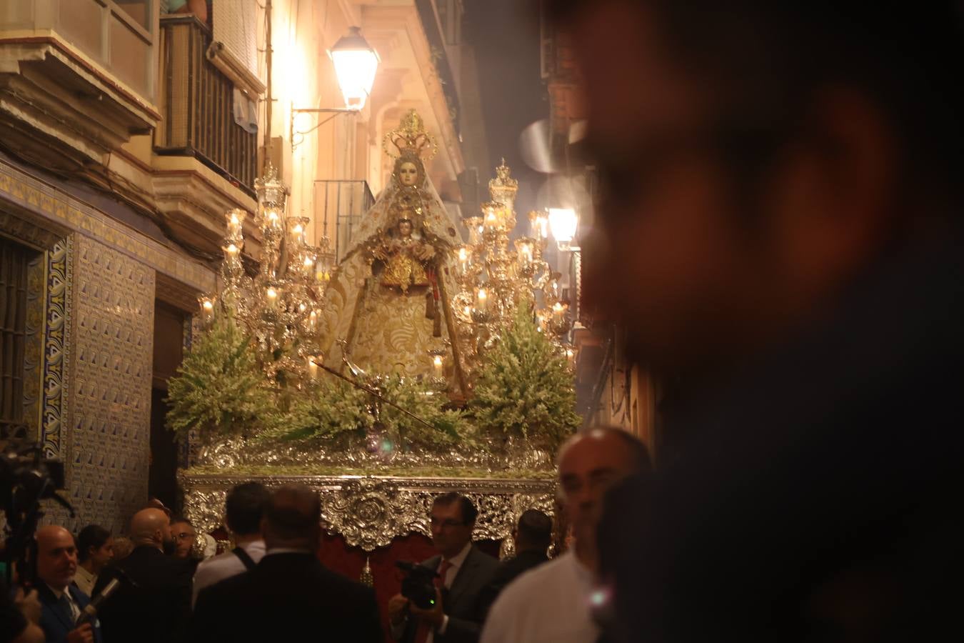
[[[114,0],[0,3],[0,141],[66,174],[102,166],[154,110],[154,20]],[[140,13],[139,13],[140,15]],[[156,15],[156,13],[154,13]]]

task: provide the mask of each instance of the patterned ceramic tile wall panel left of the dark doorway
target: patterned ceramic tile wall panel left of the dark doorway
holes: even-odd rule
[[[147,501],[154,271],[77,235],[67,485],[71,526],[115,533]]]

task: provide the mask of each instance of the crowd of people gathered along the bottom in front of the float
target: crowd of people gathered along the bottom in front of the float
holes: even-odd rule
[[[120,537],[99,525],[76,537],[45,525],[29,554],[36,563],[33,593],[21,595],[22,622],[6,640],[383,643],[388,633],[400,643],[595,643],[602,630],[589,599],[603,494],[649,469],[646,447],[619,429],[567,442],[558,473],[574,540],[551,560],[553,522],[542,511],[522,513],[515,555],[500,562],[472,542],[477,509],[469,497],[437,496],[427,519],[438,555],[420,562],[434,600],[420,606],[399,593],[388,601],[385,619],[371,588],[319,561],[321,501],[305,486],[233,487],[225,527],[234,549],[220,555],[200,553],[206,539],[198,539],[194,525],[156,503],[131,518],[132,549],[122,553]]]

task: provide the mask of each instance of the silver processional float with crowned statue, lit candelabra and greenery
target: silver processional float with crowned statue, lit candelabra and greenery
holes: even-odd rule
[[[391,179],[336,265],[327,240],[308,243],[309,220],[285,213],[273,169],[255,186],[256,267],[242,256],[246,213],[226,214],[220,287],[200,299],[198,356],[171,385],[169,422],[190,445],[185,513],[203,530],[221,524],[228,489],[252,479],[316,489],[330,533],[365,551],[430,535],[443,492],[478,506],[477,540],[511,545],[525,509],[554,513],[553,448],[575,413],[550,417],[549,440],[525,425],[483,431],[473,406],[476,387],[494,386],[492,361],[512,362],[507,343],[542,355],[572,387],[572,322],[544,256],[547,218],[530,213],[518,234],[518,183],[503,161],[491,201],[453,221],[425,172],[436,144],[414,110],[384,147]],[[215,390],[205,399],[205,387],[225,399],[210,399]],[[262,411],[246,410],[252,399]]]

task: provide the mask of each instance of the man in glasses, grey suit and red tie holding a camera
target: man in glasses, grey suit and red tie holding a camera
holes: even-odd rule
[[[402,643],[473,643],[485,613],[479,594],[492,580],[498,561],[475,549],[472,528],[478,511],[466,496],[443,494],[432,504],[432,544],[439,555],[421,564],[438,575],[438,600],[420,609],[402,595],[388,601],[392,635]]]

